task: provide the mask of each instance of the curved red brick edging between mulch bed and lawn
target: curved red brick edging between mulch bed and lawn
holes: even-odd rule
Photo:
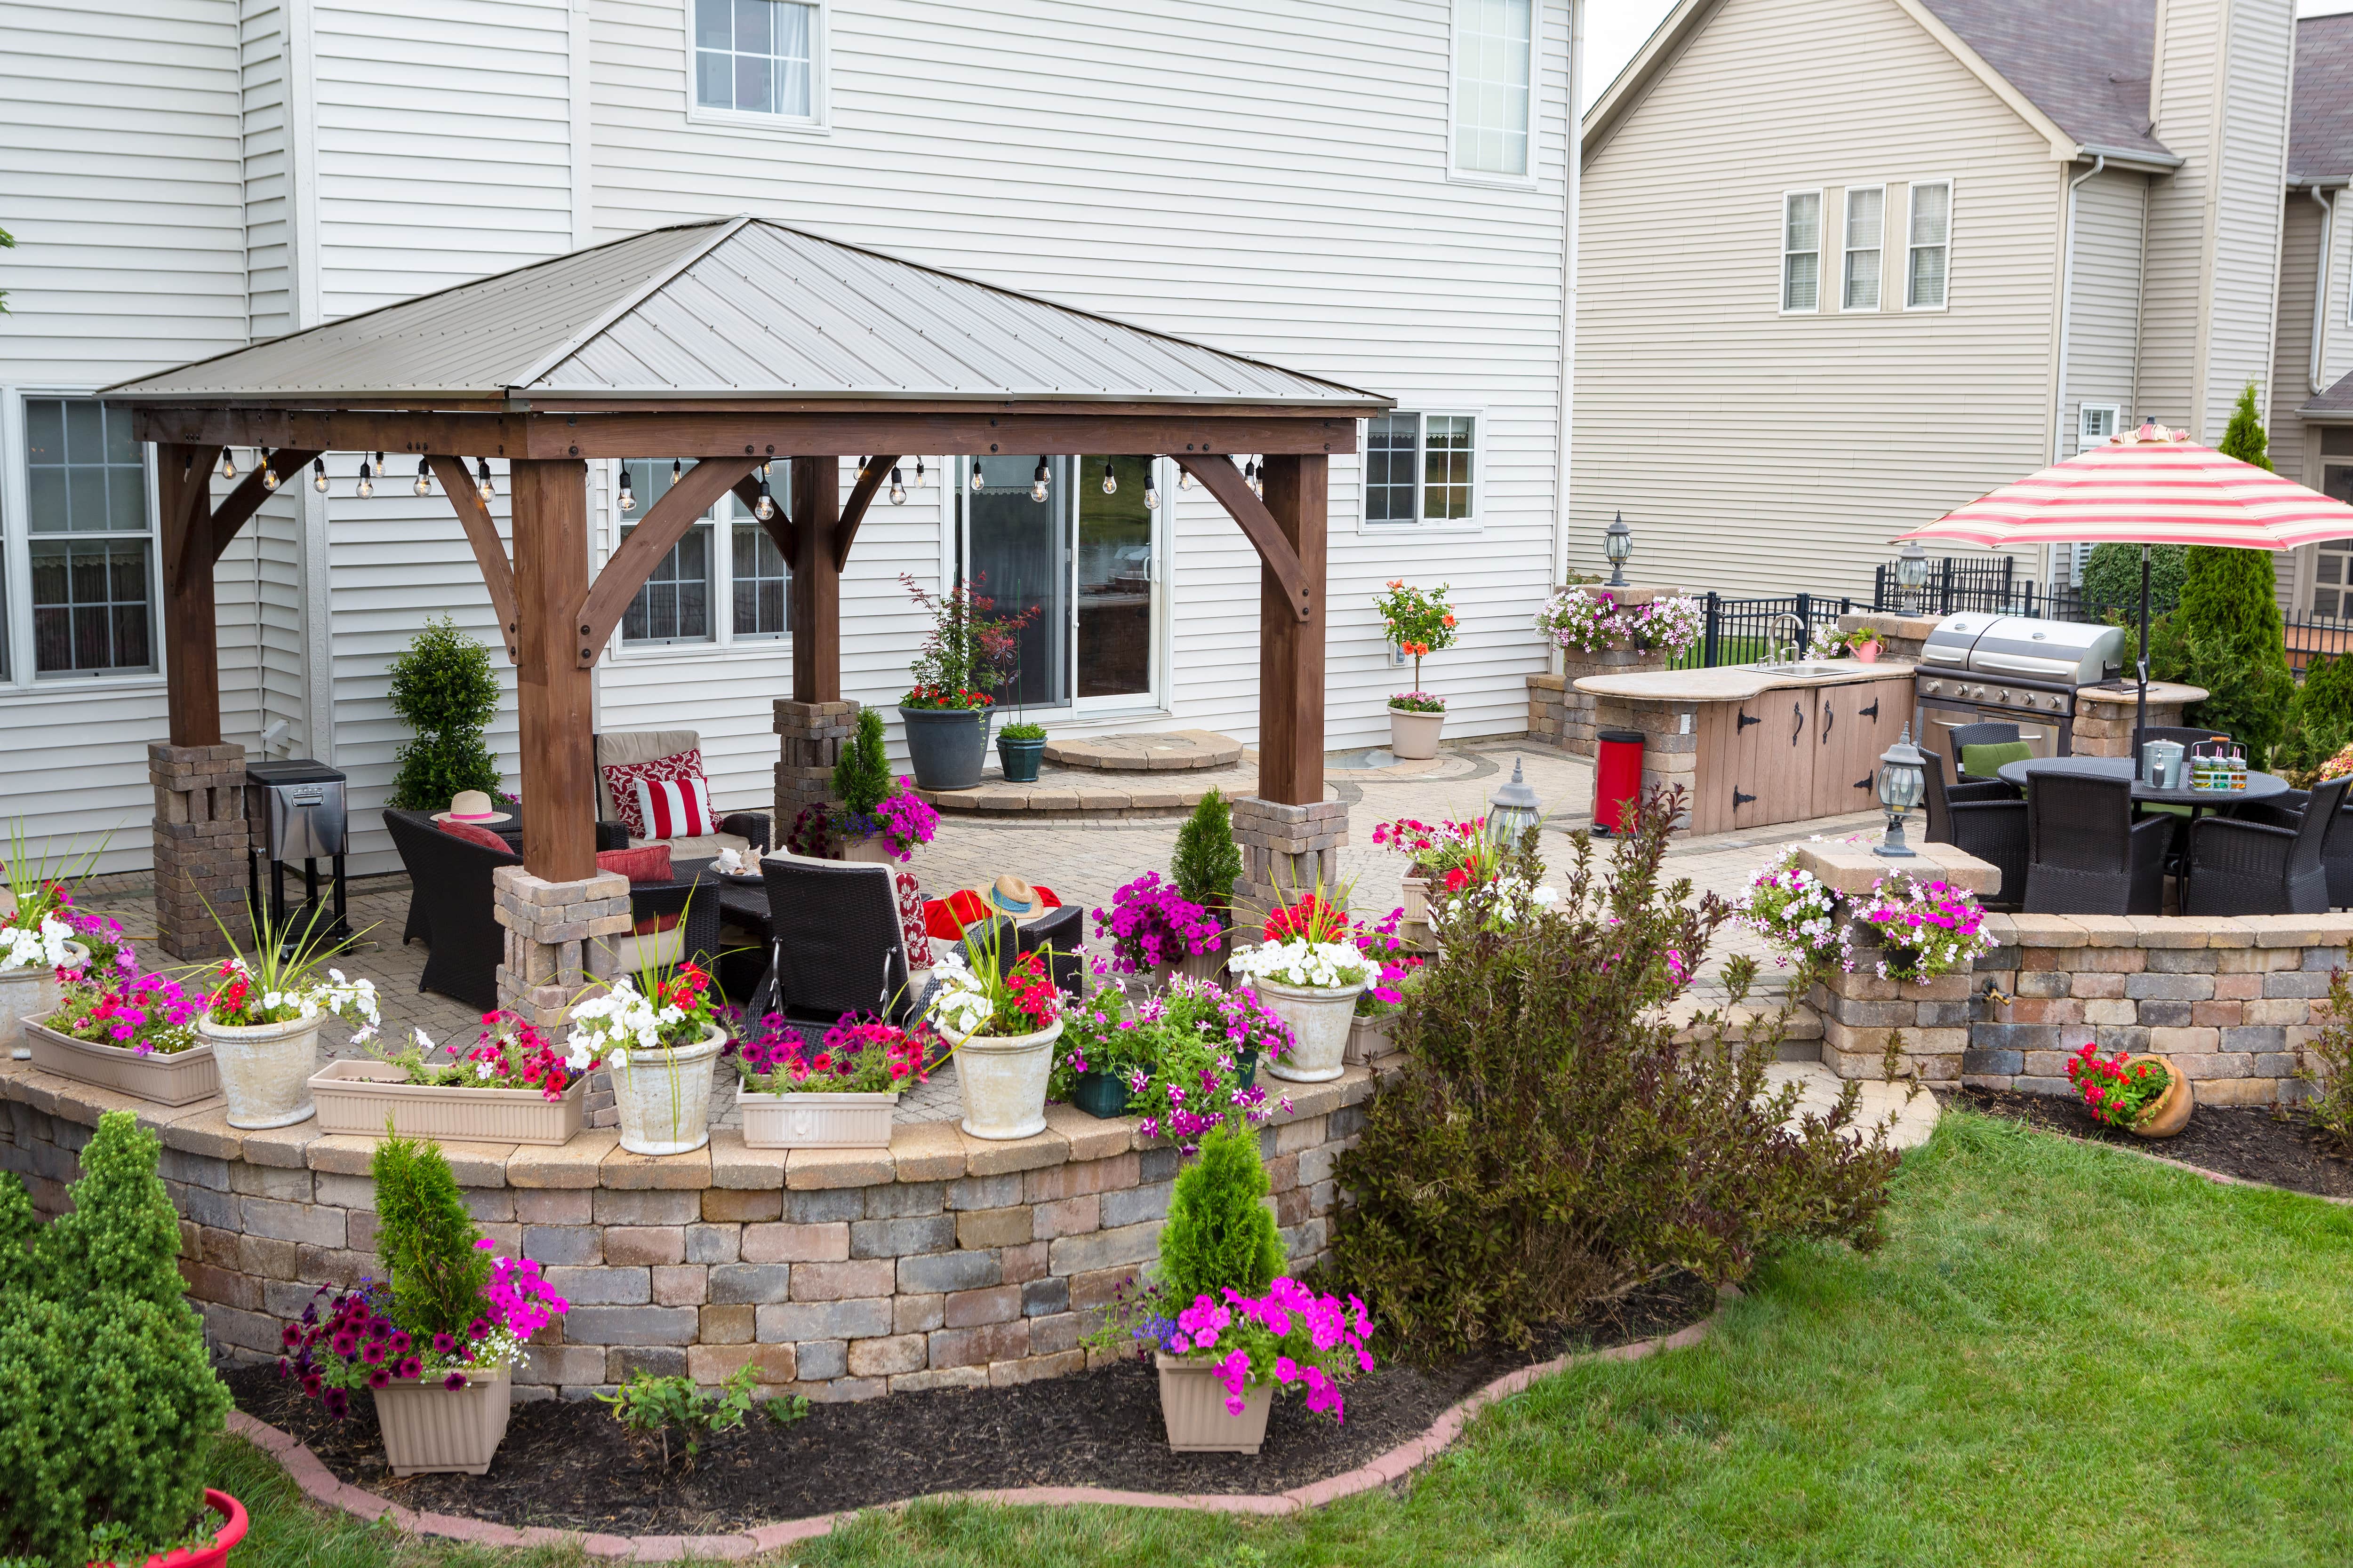
[[[1725,1295],[1737,1295],[1737,1291],[1725,1291]],[[1308,1486],[1294,1486],[1287,1493],[1259,1495],[1224,1495],[1224,1493],[1200,1493],[1200,1495],[1162,1495],[1162,1493],[1113,1493],[1096,1486],[1016,1486],[1005,1490],[969,1490],[969,1493],[934,1493],[936,1500],[965,1497],[974,1502],[1007,1502],[1007,1505],[1073,1505],[1073,1502],[1101,1502],[1118,1507],[1151,1507],[1151,1509],[1200,1509],[1212,1514],[1297,1514],[1301,1509],[1322,1507],[1325,1502],[1337,1502],[1341,1497],[1353,1497],[1355,1493],[1369,1493],[1374,1488],[1402,1481],[1424,1460],[1435,1458],[1445,1450],[1464,1429],[1464,1425],[1487,1403],[1518,1394],[1537,1378],[1548,1378],[1562,1368],[1579,1361],[1642,1361],[1661,1349],[1687,1349],[1708,1338],[1715,1326],[1715,1316],[1722,1312],[1711,1312],[1689,1328],[1678,1328],[1675,1333],[1657,1335],[1649,1340],[1635,1340],[1631,1345],[1612,1345],[1609,1349],[1584,1349],[1567,1356],[1555,1356],[1537,1366],[1522,1366],[1518,1371],[1504,1373],[1487,1387],[1473,1392],[1461,1403],[1442,1410],[1431,1429],[1421,1436],[1391,1448],[1369,1465],[1360,1465],[1346,1474],[1332,1476],[1329,1481],[1313,1481]],[[671,1563],[685,1556],[713,1556],[713,1559],[741,1559],[758,1556],[762,1552],[776,1552],[798,1540],[814,1540],[828,1535],[835,1523],[847,1521],[866,1509],[845,1509],[840,1514],[816,1514],[812,1519],[791,1519],[786,1523],[767,1523],[758,1530],[741,1530],[732,1535],[584,1535],[579,1530],[551,1530],[546,1526],[515,1528],[506,1523],[492,1523],[487,1519],[459,1519],[454,1514],[419,1514],[416,1509],[405,1509],[398,1502],[386,1502],[384,1497],[360,1490],[348,1481],[339,1481],[318,1455],[311,1453],[306,1443],[294,1441],[292,1434],[247,1415],[245,1410],[228,1413],[228,1432],[242,1436],[256,1448],[278,1458],[285,1472],[296,1486],[308,1493],[313,1502],[325,1507],[344,1509],[355,1519],[381,1521],[388,1519],[395,1528],[409,1535],[442,1535],[449,1540],[466,1540],[482,1547],[546,1547],[560,1542],[579,1542],[588,1556],[600,1559],[635,1559],[640,1563]],[[929,1497],[908,1497],[908,1502],[925,1502]],[[899,1505],[882,1505],[899,1507]]]

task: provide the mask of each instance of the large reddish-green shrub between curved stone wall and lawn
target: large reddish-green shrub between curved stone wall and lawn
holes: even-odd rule
[[[1678,1041],[1666,1004],[1729,917],[1664,882],[1682,790],[1654,790],[1595,863],[1579,835],[1551,905],[1522,849],[1433,912],[1440,957],[1398,1016],[1337,1180],[1332,1272],[1409,1354],[1527,1347],[1548,1324],[1668,1269],[1725,1284],[1798,1239],[1873,1246],[1897,1157],[1847,1138],[1857,1086],[1798,1114],[1765,1086],[1786,1013]],[[1753,966],[1727,969],[1734,999]]]

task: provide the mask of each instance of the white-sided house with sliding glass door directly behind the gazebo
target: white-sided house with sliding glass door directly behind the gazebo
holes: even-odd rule
[[[1428,663],[1449,733],[1520,731],[1562,512],[1569,33],[1560,0],[12,5],[0,811],[113,830],[111,867],[148,856],[155,484],[89,390],[734,212],[1395,397],[1332,473],[1329,743],[1384,743],[1407,682],[1372,614],[1386,578],[1452,583],[1464,639]],[[906,689],[901,571],[986,571],[1040,611],[1031,717],[1252,738],[1252,548],[1167,465],[1115,463],[1104,496],[1111,458],[1056,458],[1040,505],[1031,456],[984,461],[979,491],[974,454],[908,456],[842,588],[847,696]],[[219,564],[228,733],[351,773],[355,870],[393,863],[388,661],[442,611],[496,646],[414,470],[391,454],[369,498],[358,454],[325,494],[285,475]],[[671,454],[628,473],[642,508]],[[598,552],[628,527],[619,480],[593,477]],[[504,527],[504,468],[499,489]],[[774,548],[715,515],[600,661],[600,729],[694,726],[722,804],[765,802],[781,607]],[[511,705],[492,741],[513,769]]]

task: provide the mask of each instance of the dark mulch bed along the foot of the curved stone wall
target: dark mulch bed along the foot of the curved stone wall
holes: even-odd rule
[[[1421,1436],[1447,1406],[1518,1366],[1673,1333],[1713,1309],[1715,1291],[1680,1276],[1558,1328],[1529,1354],[1489,1352],[1435,1368],[1381,1363],[1348,1385],[1341,1427],[1308,1415],[1299,1396],[1278,1396],[1257,1455],[1169,1453],[1158,1375],[1120,1361],[1009,1389],[821,1403],[784,1427],[755,1413],[739,1432],[706,1441],[692,1469],[675,1458],[664,1469],[659,1453],[633,1443],[593,1399],[518,1403],[487,1474],[395,1479],[374,1401],[353,1399],[336,1425],[273,1363],[226,1378],[240,1410],[292,1432],[336,1479],[402,1507],[508,1526],[692,1535],[1007,1486],[1280,1493]],[[671,1448],[680,1450],[675,1434]]]

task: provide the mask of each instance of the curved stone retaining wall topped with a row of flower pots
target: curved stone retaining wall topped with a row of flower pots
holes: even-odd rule
[[[1308,1267],[1374,1072],[1268,1088],[1294,1107],[1261,1131],[1275,1218],[1292,1265]],[[273,1359],[280,1324],[318,1286],[381,1272],[376,1138],[320,1135],[315,1121],[240,1133],[219,1100],[167,1110],[0,1060],[0,1168],[45,1218],[108,1110],[162,1140],[181,1274],[231,1359]],[[809,1399],[1082,1371],[1089,1309],[1158,1253],[1179,1166],[1134,1119],[1061,1105],[1019,1143],[936,1121],[899,1126],[887,1152],[746,1150],[713,1128],[708,1150],[671,1159],[626,1154],[614,1131],[445,1154],[482,1232],[541,1262],[572,1302],[532,1342],[518,1399],[579,1399],[640,1368],[715,1385],[753,1366],[772,1392]]]

